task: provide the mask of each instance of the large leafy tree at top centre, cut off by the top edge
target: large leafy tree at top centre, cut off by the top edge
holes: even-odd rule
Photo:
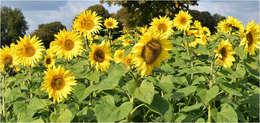
[[[126,19],[133,19],[134,21],[124,22],[124,28],[134,26],[145,26],[152,22],[152,18],[167,15],[173,19],[174,14],[181,9],[188,9],[189,5],[198,5],[197,1],[100,1],[100,3],[107,3],[109,6],[121,5],[126,8],[127,15],[132,16]],[[133,23],[132,23],[133,22]]]

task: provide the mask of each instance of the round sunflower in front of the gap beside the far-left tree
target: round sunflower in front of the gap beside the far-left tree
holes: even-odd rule
[[[39,62],[39,59],[42,59],[42,52],[44,49],[41,46],[43,43],[40,43],[42,40],[38,40],[34,35],[32,38],[30,34],[28,37],[25,35],[23,38],[19,37],[20,41],[17,41],[15,45],[14,52],[16,52],[17,59],[19,63],[23,66],[34,66],[34,63]]]

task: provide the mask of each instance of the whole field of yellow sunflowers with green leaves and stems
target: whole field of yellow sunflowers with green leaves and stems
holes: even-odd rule
[[[1,122],[259,122],[254,20],[221,17],[211,34],[183,10],[119,32],[76,17],[49,49],[36,35],[2,46]]]

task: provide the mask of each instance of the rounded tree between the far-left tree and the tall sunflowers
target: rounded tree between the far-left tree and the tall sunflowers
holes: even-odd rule
[[[66,29],[66,26],[62,25],[61,22],[55,21],[48,24],[38,25],[38,29],[34,30],[32,35],[39,36],[39,40],[42,40],[44,47],[49,48],[50,42],[54,41],[54,34],[58,34],[60,29]]]

